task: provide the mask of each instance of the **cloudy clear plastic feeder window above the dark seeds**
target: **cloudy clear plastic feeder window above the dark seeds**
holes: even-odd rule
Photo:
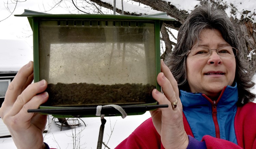
[[[39,61],[48,84],[155,87],[154,22],[41,20]]]

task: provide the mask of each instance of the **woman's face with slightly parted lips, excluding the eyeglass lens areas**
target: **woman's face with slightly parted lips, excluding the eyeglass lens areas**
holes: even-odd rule
[[[216,29],[204,29],[200,34],[200,41],[194,47],[204,46],[217,49],[230,46]],[[236,72],[235,57],[221,58],[216,50],[211,50],[211,55],[206,58],[198,58],[188,54],[186,59],[187,80],[191,92],[201,92],[212,98],[217,98],[219,92],[232,85]]]

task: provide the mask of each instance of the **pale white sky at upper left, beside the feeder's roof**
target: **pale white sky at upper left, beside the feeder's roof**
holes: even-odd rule
[[[0,20],[5,19],[10,15],[10,12],[5,8],[8,0],[0,0]],[[10,0],[9,0],[10,3]],[[14,13],[7,19],[0,22],[0,39],[16,39],[25,40],[29,45],[32,45],[32,30],[26,17],[15,17],[15,14],[22,14],[24,9],[44,12],[49,10],[54,5],[53,0],[27,0],[19,2]],[[10,10],[14,10],[15,4],[8,5]],[[44,7],[43,7],[44,6]],[[45,8],[45,9],[44,9]],[[69,13],[63,8],[57,7],[49,13]]]

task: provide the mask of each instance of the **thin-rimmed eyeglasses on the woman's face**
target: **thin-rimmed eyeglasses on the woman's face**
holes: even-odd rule
[[[208,47],[195,47],[188,50],[187,55],[190,53],[195,58],[207,58],[211,55],[212,50],[216,50],[217,54],[221,58],[236,57],[238,50],[231,46],[220,47],[218,49],[210,49]]]

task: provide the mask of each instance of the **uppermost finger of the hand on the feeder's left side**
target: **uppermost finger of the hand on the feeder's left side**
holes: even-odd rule
[[[26,88],[26,85],[28,85],[29,82],[33,80],[32,75],[33,75],[33,62],[30,61],[28,64],[23,66],[18,71],[18,73],[16,74],[16,76],[8,86],[8,90],[6,91],[5,100],[4,100],[4,104],[6,106],[13,105],[18,95],[22,93],[23,89]]]

